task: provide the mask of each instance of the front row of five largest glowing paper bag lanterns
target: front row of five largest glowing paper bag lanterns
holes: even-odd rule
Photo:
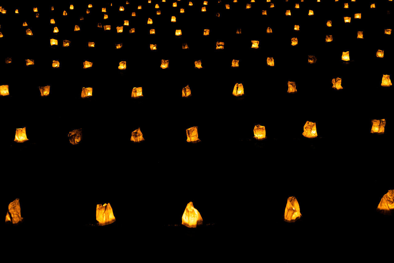
[[[394,190],[388,190],[388,192],[383,195],[376,210],[384,215],[394,215]],[[284,209],[284,221],[289,223],[296,222],[301,218],[301,216],[299,203],[296,197],[290,196],[287,199],[286,207]],[[97,225],[109,225],[116,221],[110,203],[104,205],[97,204],[96,220]],[[19,224],[22,221],[23,218],[20,213],[19,199],[15,199],[8,205],[6,223]],[[182,225],[189,228],[195,228],[202,224],[203,218],[201,217],[200,212],[194,208],[193,202],[189,202],[182,214]]]

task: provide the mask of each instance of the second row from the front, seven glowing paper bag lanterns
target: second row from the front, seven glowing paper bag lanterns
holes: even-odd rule
[[[381,120],[374,119],[371,121],[371,124],[372,124],[372,128],[370,131],[371,133],[377,133],[377,134],[385,133],[385,125],[386,125],[385,119],[381,119]],[[253,133],[255,134],[254,138],[256,140],[260,141],[260,140],[266,139],[266,127],[265,126],[261,126],[260,124],[255,125],[255,128],[253,129]],[[310,122],[310,121],[305,122],[304,131],[303,131],[302,135],[306,138],[316,138],[318,136],[318,133],[316,130],[316,122]],[[186,141],[188,143],[198,143],[201,141],[198,137],[197,126],[193,126],[193,127],[186,129],[186,136],[187,136]],[[82,128],[70,131],[68,134],[68,137],[69,137],[69,141],[72,145],[77,145],[82,140]],[[29,139],[27,138],[27,135],[26,135],[26,127],[16,129],[15,139],[14,139],[15,142],[23,143],[28,140]],[[141,132],[140,128],[132,131],[130,141],[132,141],[134,143],[139,143],[141,141],[145,141],[144,137],[142,136],[142,132]]]

